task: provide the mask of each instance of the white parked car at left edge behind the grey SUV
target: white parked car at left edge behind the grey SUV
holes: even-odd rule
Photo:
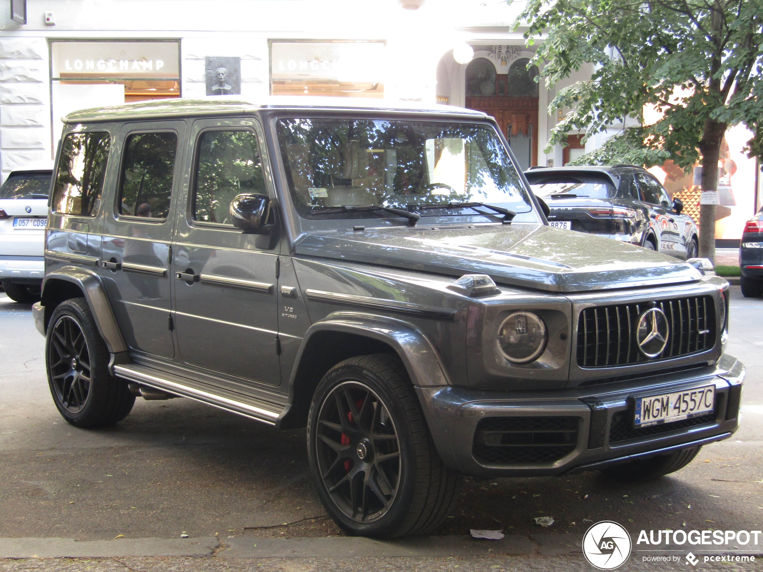
[[[0,278],[11,300],[40,300],[52,166],[11,171],[0,187]]]

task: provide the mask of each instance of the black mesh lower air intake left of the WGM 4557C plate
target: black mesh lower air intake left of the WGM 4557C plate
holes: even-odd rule
[[[488,417],[475,432],[472,453],[487,464],[559,461],[578,444],[578,417]]]

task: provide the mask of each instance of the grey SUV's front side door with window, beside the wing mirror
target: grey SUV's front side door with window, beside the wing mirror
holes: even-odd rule
[[[243,382],[280,384],[277,247],[230,223],[237,194],[273,196],[251,119],[200,120],[188,205],[179,214],[172,262],[175,327],[188,365]]]

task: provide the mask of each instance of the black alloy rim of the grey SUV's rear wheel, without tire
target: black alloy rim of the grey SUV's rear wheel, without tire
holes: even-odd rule
[[[56,397],[69,413],[79,413],[90,397],[92,373],[88,342],[74,318],[59,317],[50,333],[48,352]]]

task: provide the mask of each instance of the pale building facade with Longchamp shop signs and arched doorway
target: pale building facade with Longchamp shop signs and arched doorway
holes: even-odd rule
[[[564,85],[546,88],[534,81],[537,71],[527,69],[533,48],[513,31],[517,4],[427,0],[417,10],[401,8],[398,0],[25,5],[25,23],[10,9],[0,12],[2,180],[12,169],[53,159],[60,117],[70,111],[146,99],[438,101],[495,117],[523,169],[565,165],[619,128],[586,143],[583,133],[573,133],[567,147],[545,153],[560,117],[549,115],[548,105]],[[469,57],[459,57],[465,45],[472,48]],[[590,73],[581,69],[565,85]]]

